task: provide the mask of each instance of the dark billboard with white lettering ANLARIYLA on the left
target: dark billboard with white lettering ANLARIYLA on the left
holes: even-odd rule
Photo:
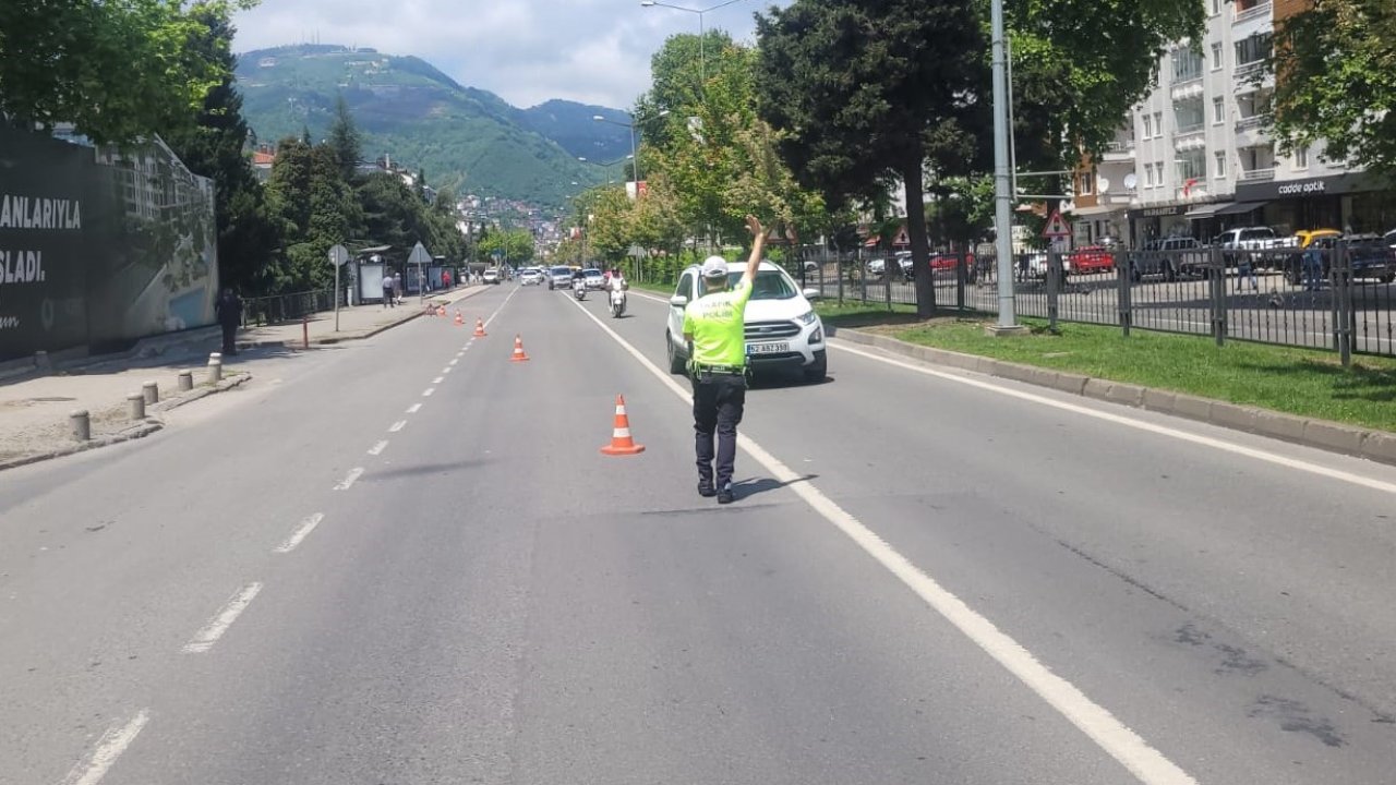
[[[0,362],[212,324],[215,237],[212,182],[159,140],[0,127]]]

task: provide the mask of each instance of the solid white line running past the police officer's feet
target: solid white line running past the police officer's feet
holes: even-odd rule
[[[617,335],[614,330],[582,307],[581,303],[575,303],[574,300],[574,305],[588,318],[595,321],[602,331],[610,335],[611,339],[620,344],[621,348],[630,352],[641,366],[649,370],[674,395],[684,402],[692,402],[690,392],[678,386],[670,374],[649,362],[649,358]],[[1163,753],[1149,746],[1128,725],[1086,697],[1075,684],[1053,673],[1050,668],[1043,665],[1022,644],[995,627],[993,622],[974,612],[965,601],[944,588],[921,571],[920,567],[912,564],[910,560],[898,553],[896,549],[874,534],[872,529],[863,525],[863,522],[825,496],[824,492],[814,487],[803,475],[790,471],[771,453],[766,453],[765,448],[745,436],[738,434],[737,444],[758,464],[765,467],[776,480],[786,483],[815,513],[847,535],[864,553],[892,573],[905,587],[912,589],[933,610],[959,629],[974,645],[1016,676],[1027,689],[1037,693],[1047,705],[1057,710],[1058,714],[1096,742],[1110,757],[1120,761],[1141,782],[1145,785],[1196,785],[1196,779],[1164,757]]]

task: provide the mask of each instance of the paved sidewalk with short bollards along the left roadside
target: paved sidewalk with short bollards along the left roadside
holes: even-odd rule
[[[456,303],[487,289],[483,285],[458,288],[438,292],[426,302],[447,307],[447,317],[454,318]],[[311,346],[331,345],[377,335],[424,313],[424,303],[412,298],[392,309],[341,309],[339,331],[335,331],[334,311],[313,314],[304,324],[296,321],[239,330],[240,355],[236,360],[225,360],[225,381],[216,388],[207,384],[208,355],[216,352],[222,342],[216,328],[191,331],[184,339],[177,335],[152,338],[121,355],[60,363],[45,376],[0,380],[0,469],[57,457],[77,447],[68,422],[68,413],[74,409],[87,409],[89,413],[91,446],[135,439],[159,430],[161,411],[250,380],[250,372],[255,370],[260,360],[278,355],[285,358],[288,352],[300,349],[307,334]],[[473,318],[468,323],[473,324]],[[258,349],[257,356],[244,358],[244,349]],[[181,370],[193,372],[193,392],[176,392]],[[145,381],[159,386],[161,404],[147,406],[145,420],[133,422],[126,398],[140,392]]]

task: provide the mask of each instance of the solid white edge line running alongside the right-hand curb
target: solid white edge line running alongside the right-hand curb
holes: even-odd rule
[[[1078,415],[1083,415],[1083,416],[1087,416],[1087,418],[1094,418],[1094,419],[1099,419],[1099,420],[1106,420],[1106,422],[1110,422],[1110,423],[1114,423],[1114,425],[1122,425],[1125,427],[1132,427],[1132,429],[1136,429],[1136,430],[1143,430],[1143,432],[1154,433],[1157,436],[1167,436],[1170,439],[1177,439],[1180,441],[1189,441],[1192,444],[1202,444],[1205,447],[1212,447],[1213,450],[1220,450],[1223,453],[1231,453],[1234,455],[1245,455],[1247,458],[1255,458],[1256,461],[1265,461],[1266,464],[1275,464],[1277,467],[1286,467],[1286,468],[1290,468],[1290,469],[1298,469],[1301,472],[1308,472],[1308,474],[1325,476],[1325,478],[1329,478],[1329,479],[1337,479],[1337,480],[1347,482],[1347,483],[1351,483],[1351,485],[1360,485],[1362,487],[1369,487],[1372,490],[1379,490],[1379,492],[1383,492],[1383,493],[1396,493],[1396,483],[1393,483],[1393,482],[1386,482],[1386,480],[1381,480],[1381,479],[1375,479],[1375,478],[1368,478],[1368,476],[1362,476],[1362,475],[1353,474],[1353,472],[1346,472],[1343,469],[1335,469],[1335,468],[1330,468],[1330,467],[1323,467],[1323,465],[1319,465],[1319,464],[1304,461],[1301,458],[1289,458],[1286,455],[1279,455],[1279,454],[1270,453],[1268,450],[1259,450],[1259,448],[1255,448],[1255,447],[1245,447],[1244,444],[1235,444],[1235,443],[1231,443],[1231,441],[1224,441],[1222,439],[1215,439],[1215,437],[1210,437],[1210,436],[1202,436],[1199,433],[1188,433],[1187,430],[1180,430],[1180,429],[1170,427],[1170,426],[1166,426],[1166,425],[1157,425],[1157,423],[1152,423],[1152,422],[1145,422],[1145,420],[1139,420],[1139,419],[1129,418],[1129,416],[1125,416],[1125,415],[1118,415],[1118,413],[1114,413],[1114,412],[1099,411],[1099,409],[1093,409],[1090,406],[1082,406],[1079,404],[1069,404],[1067,401],[1055,401],[1055,399],[1048,398],[1046,395],[1037,395],[1036,392],[1027,392],[1025,390],[1013,390],[1011,387],[1004,387],[1004,386],[1000,386],[1000,384],[994,384],[993,381],[984,381],[984,380],[973,379],[973,377],[969,377],[969,376],[956,376],[953,373],[945,373],[945,372],[934,370],[934,369],[930,369],[930,367],[923,367],[923,366],[917,366],[917,365],[913,365],[913,363],[902,362],[902,360],[898,360],[898,359],[884,358],[884,356],[875,355],[872,352],[866,352],[863,349],[854,349],[852,346],[842,346],[842,345],[836,345],[833,342],[831,342],[829,346],[833,346],[833,348],[836,348],[836,349],[839,349],[842,352],[849,352],[852,355],[859,355],[859,356],[867,358],[870,360],[877,360],[877,362],[886,363],[886,365],[891,365],[891,366],[895,366],[895,367],[900,367],[900,369],[905,369],[905,370],[910,370],[910,372],[914,372],[914,373],[921,373],[921,374],[926,374],[926,376],[934,376],[937,379],[944,379],[946,381],[953,381],[956,384],[967,384],[970,387],[976,387],[979,390],[986,390],[988,392],[997,392],[1000,395],[1008,395],[1009,398],[1018,398],[1020,401],[1030,401],[1033,404],[1040,404],[1043,406],[1051,406],[1054,409],[1062,409],[1062,411],[1078,413]]]

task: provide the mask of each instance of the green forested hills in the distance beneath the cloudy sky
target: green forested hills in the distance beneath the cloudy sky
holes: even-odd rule
[[[560,207],[574,180],[602,177],[577,161],[628,155],[630,133],[614,109],[550,101],[518,109],[493,92],[456,84],[417,57],[373,49],[297,45],[239,54],[243,113],[257,138],[272,142],[309,129],[324,138],[343,95],[366,158],[424,169],[434,187]],[[621,151],[621,152],[616,152]]]

